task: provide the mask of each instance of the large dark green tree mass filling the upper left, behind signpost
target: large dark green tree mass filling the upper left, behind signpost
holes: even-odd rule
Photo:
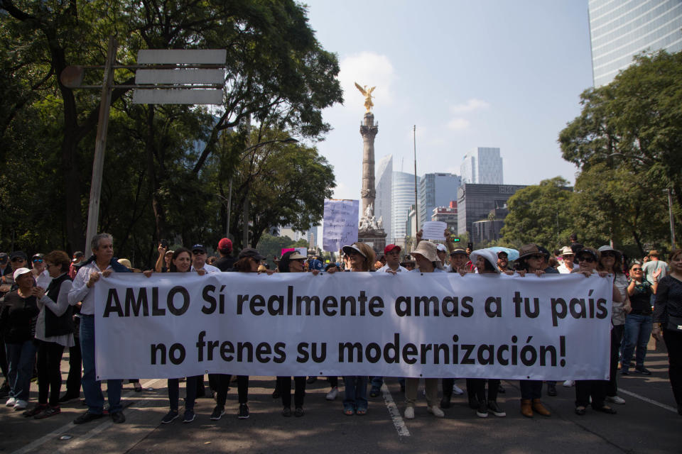
[[[286,184],[274,189],[288,191],[293,201],[265,194],[268,180],[244,176],[248,167],[239,161],[249,123],[319,140],[329,129],[322,110],[342,101],[337,58],[321,48],[300,4],[0,0],[0,16],[0,250],[71,251],[85,244],[99,91],[68,89],[59,75],[67,65],[102,65],[109,35],[117,37],[121,64],[134,64],[137,51],[146,48],[227,49],[224,104],[210,113],[194,106],[136,106],[129,89],[114,90],[99,228],[114,235],[117,255],[141,267],[155,260],[159,238],[217,242],[227,226],[215,194],[227,198],[231,176],[237,199],[241,184],[257,182],[244,186],[256,188],[252,201],[283,207],[268,211],[254,203],[249,218],[256,243],[260,231],[282,219],[301,227],[318,219],[307,211],[321,213],[318,199],[328,194],[333,176],[313,149],[274,162],[277,151],[261,165],[272,172],[271,161],[281,167],[293,162],[320,172],[320,187],[302,196],[305,201]],[[100,70],[88,70],[84,83],[100,84],[101,77]],[[125,70],[114,79],[132,82]],[[229,140],[222,140],[222,131]],[[237,210],[232,214],[230,230],[239,233]]]

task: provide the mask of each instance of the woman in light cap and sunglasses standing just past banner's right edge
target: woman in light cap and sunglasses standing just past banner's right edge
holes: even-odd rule
[[[624,303],[613,301],[611,306],[611,378],[606,387],[607,401],[613,402],[614,404],[624,404],[625,399],[618,395],[617,377],[618,353],[623,340],[623,333],[627,329],[627,326],[625,326],[627,323],[625,314],[630,311],[630,301],[627,299],[627,277],[625,277],[623,272],[623,256],[619,251],[611,246],[604,245],[599,248],[598,252],[599,262],[597,262],[597,270],[609,273],[613,284],[617,287],[624,299]],[[649,309],[649,313],[651,313],[651,309]],[[649,326],[651,326],[651,319],[649,319]],[[646,334],[646,337],[649,338],[649,334]]]

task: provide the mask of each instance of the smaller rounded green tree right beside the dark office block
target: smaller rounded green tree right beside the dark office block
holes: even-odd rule
[[[565,179],[554,177],[516,191],[507,201],[509,214],[504,218],[499,243],[516,248],[537,243],[549,250],[565,245],[573,230],[569,212],[573,192],[567,186]]]

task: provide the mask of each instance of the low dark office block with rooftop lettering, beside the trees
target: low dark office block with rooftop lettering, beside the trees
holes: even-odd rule
[[[457,233],[469,234],[477,248],[482,242],[499,238],[507,216],[507,200],[525,186],[516,184],[462,184],[457,199]],[[484,221],[482,223],[478,223]],[[475,223],[476,226],[475,226]]]

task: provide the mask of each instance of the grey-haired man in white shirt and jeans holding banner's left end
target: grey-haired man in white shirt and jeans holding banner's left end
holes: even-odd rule
[[[73,423],[82,424],[100,419],[104,413],[102,385],[97,381],[94,370],[94,286],[100,277],[109,277],[112,272],[131,272],[114,259],[114,239],[109,233],[98,233],[90,241],[92,255],[90,262],[80,267],[69,291],[69,304],[80,308],[80,349],[83,359],[82,386],[87,411]],[[111,340],[115,342],[115,339]],[[107,380],[109,416],[114,423],[123,423],[126,417],[121,406],[121,380]]]

